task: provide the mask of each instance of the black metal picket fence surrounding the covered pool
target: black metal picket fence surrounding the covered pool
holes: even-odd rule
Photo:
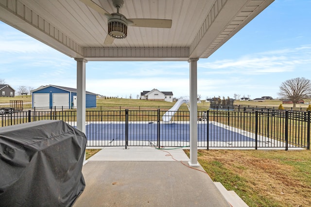
[[[86,110],[87,146],[189,146],[190,114],[180,108],[97,107]],[[310,149],[310,111],[233,107],[198,111],[198,147],[290,147]],[[76,127],[76,110],[29,109],[0,114],[1,127],[39,120],[63,120]]]

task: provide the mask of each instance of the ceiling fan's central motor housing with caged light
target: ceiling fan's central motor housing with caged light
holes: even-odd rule
[[[108,34],[117,39],[123,39],[127,36],[127,20],[120,13],[112,13],[108,19]]]

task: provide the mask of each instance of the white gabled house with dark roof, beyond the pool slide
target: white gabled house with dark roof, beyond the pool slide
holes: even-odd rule
[[[140,93],[141,100],[150,100],[150,101],[168,101],[173,102],[173,92],[159,91],[153,89],[151,91],[143,91]]]

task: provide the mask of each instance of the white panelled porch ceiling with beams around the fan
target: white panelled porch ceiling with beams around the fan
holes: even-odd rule
[[[116,12],[111,0],[94,0]],[[124,0],[127,18],[172,19],[170,29],[128,27],[104,45],[107,19],[80,0],[0,0],[0,20],[73,58],[187,61],[207,58],[273,0]]]

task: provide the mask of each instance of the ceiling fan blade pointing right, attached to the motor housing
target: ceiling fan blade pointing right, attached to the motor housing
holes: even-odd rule
[[[171,19],[127,19],[128,26],[132,27],[154,27],[154,28],[171,28]]]

